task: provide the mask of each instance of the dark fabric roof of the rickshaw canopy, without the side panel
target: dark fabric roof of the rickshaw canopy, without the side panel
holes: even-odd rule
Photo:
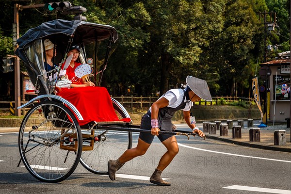
[[[24,49],[37,39],[49,38],[54,40],[53,43],[63,47],[62,50],[65,51],[69,40],[74,42],[74,44],[82,43],[86,45],[110,37],[114,43],[118,39],[117,32],[112,26],[79,20],[67,21],[64,19],[56,19],[42,23],[38,27],[28,30],[18,38],[18,48],[15,53],[25,64],[29,65]]]

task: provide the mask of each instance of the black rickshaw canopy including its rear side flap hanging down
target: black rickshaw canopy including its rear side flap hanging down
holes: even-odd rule
[[[64,57],[68,47],[71,44],[87,45],[93,42],[110,39],[113,43],[118,39],[117,32],[114,27],[109,25],[95,24],[85,21],[73,20],[67,21],[56,19],[45,22],[36,28],[28,30],[24,35],[17,39],[18,48],[15,54],[25,63],[26,70],[30,76],[33,85],[36,83],[38,75],[43,74],[43,65],[39,65],[40,57],[36,52],[43,52],[35,48],[36,42],[49,39],[53,44],[57,45],[57,56],[55,62],[60,63]],[[30,56],[27,56],[30,51]],[[35,53],[35,54],[34,54]],[[30,59],[29,59],[30,58]],[[34,58],[32,62],[32,58]],[[43,63],[43,62],[42,62]],[[45,78],[40,78],[45,85]],[[44,86],[42,94],[49,93]],[[41,89],[42,90],[42,89]]]

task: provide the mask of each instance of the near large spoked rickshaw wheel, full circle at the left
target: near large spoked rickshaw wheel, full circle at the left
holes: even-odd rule
[[[20,157],[33,177],[60,182],[76,169],[82,152],[81,129],[65,105],[44,101],[25,115],[19,130]]]

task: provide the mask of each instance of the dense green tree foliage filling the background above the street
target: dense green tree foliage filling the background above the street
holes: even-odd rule
[[[41,4],[51,0],[2,0],[0,51],[13,53],[14,3]],[[57,1],[57,0],[56,0]],[[87,21],[116,28],[119,39],[102,85],[113,96],[162,95],[185,84],[187,75],[209,82],[212,95],[247,96],[256,65],[262,62],[264,24],[259,14],[277,14],[279,30],[268,42],[289,49],[288,0],[70,0],[86,7]],[[56,18],[72,15],[43,8],[19,11],[20,35]],[[269,53],[269,57],[274,57]],[[130,91],[128,90],[130,89]]]

